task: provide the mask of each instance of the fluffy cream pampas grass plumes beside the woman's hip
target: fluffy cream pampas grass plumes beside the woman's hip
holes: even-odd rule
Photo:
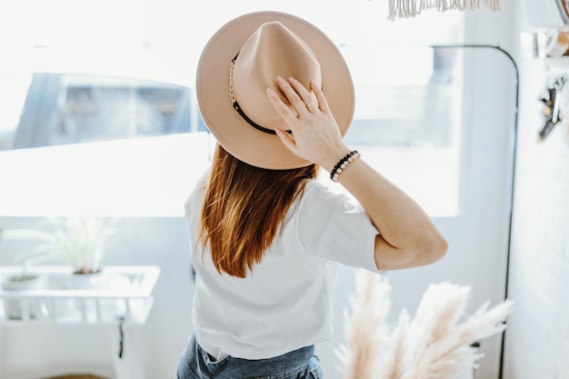
[[[502,333],[513,311],[510,300],[491,309],[484,304],[459,322],[471,288],[432,284],[414,318],[404,310],[390,328],[385,324],[390,291],[385,277],[357,272],[347,344],[338,350],[345,379],[457,379],[482,357],[471,344]]]

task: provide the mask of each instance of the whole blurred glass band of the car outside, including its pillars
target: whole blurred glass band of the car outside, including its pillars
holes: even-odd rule
[[[182,85],[48,73],[0,75],[0,83],[1,150],[206,130],[191,125],[192,91]]]

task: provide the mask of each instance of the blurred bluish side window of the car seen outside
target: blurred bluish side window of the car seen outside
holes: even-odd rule
[[[55,141],[78,143],[189,132],[187,89],[92,76],[65,76]],[[183,119],[185,117],[185,119]]]

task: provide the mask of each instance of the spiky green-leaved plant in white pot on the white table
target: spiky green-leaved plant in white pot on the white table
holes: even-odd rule
[[[5,230],[0,234],[0,239],[38,242],[32,249],[22,251],[15,257],[17,261],[24,262],[24,273],[31,264],[45,261],[63,262],[72,267],[72,287],[96,286],[95,282],[100,281],[101,260],[108,250],[108,242],[116,234],[117,220],[85,216],[46,220],[51,231]],[[90,284],[77,284],[84,281]]]

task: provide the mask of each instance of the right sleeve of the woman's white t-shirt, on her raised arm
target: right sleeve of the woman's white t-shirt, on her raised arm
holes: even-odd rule
[[[379,272],[374,258],[379,232],[360,204],[314,183],[304,191],[298,217],[298,233],[310,254]]]

